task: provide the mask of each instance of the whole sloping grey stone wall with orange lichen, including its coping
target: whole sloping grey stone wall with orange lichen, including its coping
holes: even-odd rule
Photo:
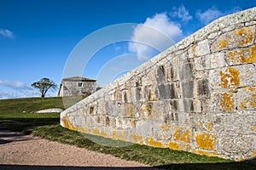
[[[256,156],[256,8],[220,18],[61,112],[61,126],[236,160]]]

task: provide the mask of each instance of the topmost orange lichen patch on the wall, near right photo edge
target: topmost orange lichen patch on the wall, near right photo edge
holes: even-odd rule
[[[255,33],[255,27],[244,27],[235,31],[232,31],[236,34],[236,37],[241,37],[241,39],[237,42],[239,45],[244,46],[251,42],[253,42],[253,37]]]

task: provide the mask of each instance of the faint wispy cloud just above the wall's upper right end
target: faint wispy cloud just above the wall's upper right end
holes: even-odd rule
[[[196,15],[199,20],[201,20],[201,22],[207,25],[208,23],[212,22],[212,20],[216,20],[221,16],[236,13],[238,11],[241,11],[240,7],[231,8],[230,10],[226,11],[220,11],[218,10],[218,8],[213,6],[212,8],[208,8],[206,11],[203,12],[197,11]]]

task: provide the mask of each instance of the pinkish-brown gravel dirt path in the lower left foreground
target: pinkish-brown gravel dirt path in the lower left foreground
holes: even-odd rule
[[[154,169],[95,151],[0,129],[0,169]]]

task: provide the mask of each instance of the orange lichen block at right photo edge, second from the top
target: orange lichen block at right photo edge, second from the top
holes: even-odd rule
[[[247,55],[247,57],[245,56]],[[235,50],[228,52],[230,60],[233,60],[235,64],[240,63],[254,63],[256,62],[256,45],[250,48],[242,48],[241,50]]]

